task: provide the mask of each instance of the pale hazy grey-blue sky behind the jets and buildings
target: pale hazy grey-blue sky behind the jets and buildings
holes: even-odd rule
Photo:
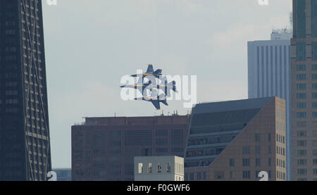
[[[247,98],[247,42],[290,27],[290,0],[57,0],[44,5],[46,73],[54,168],[70,167],[70,129],[86,116],[158,115],[122,101],[120,78],[162,68],[197,75],[197,99]],[[182,101],[162,106],[186,114]]]

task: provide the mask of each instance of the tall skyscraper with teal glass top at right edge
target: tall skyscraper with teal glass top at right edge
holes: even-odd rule
[[[317,181],[317,0],[293,0],[292,180]]]

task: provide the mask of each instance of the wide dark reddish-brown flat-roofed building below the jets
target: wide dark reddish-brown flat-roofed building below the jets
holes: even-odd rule
[[[189,115],[86,118],[72,127],[72,178],[133,181],[135,156],[183,157]]]

